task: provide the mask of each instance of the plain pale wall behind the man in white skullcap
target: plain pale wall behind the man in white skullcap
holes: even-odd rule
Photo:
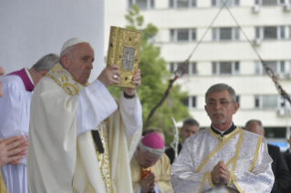
[[[1,1],[0,65],[5,73],[31,67],[49,53],[59,54],[71,37],[82,37],[95,50],[94,80],[104,66],[103,0]]]

